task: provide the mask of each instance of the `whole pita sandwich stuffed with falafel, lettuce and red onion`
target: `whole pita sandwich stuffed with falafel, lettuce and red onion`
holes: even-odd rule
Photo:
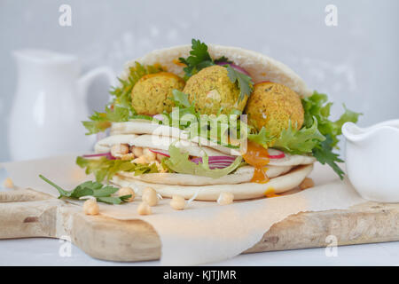
[[[284,193],[316,161],[343,177],[332,150],[359,114],[331,121],[327,96],[275,59],[192,40],[129,61],[119,80],[105,112],[83,122],[109,134],[76,160],[98,182],[216,201]]]

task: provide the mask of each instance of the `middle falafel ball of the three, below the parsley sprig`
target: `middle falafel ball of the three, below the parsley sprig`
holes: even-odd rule
[[[225,67],[211,66],[192,75],[185,84],[184,90],[189,100],[195,101],[195,108],[200,114],[230,114],[232,109],[243,111],[244,99],[239,101],[239,87],[231,83]]]

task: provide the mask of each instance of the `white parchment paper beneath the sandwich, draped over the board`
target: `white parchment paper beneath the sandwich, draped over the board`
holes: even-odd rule
[[[61,156],[27,162],[9,162],[3,166],[15,185],[58,196],[39,174],[70,190],[87,177],[74,165],[75,156]],[[139,216],[140,198],[123,205],[100,203],[100,213],[118,219],[143,219],[160,235],[161,264],[205,264],[237,256],[262,239],[271,225],[304,211],[348,209],[365,202],[349,184],[330,168],[316,164],[311,176],[316,186],[286,193],[276,198],[239,201],[220,206],[215,202],[193,201],[187,209],[170,208],[168,199],[153,207],[153,214]],[[81,201],[77,201],[82,203]]]

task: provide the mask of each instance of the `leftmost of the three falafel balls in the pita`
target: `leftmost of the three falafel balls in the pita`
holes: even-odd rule
[[[168,113],[175,106],[173,101],[174,89],[182,91],[184,80],[178,75],[168,72],[144,75],[131,91],[131,105],[137,114],[161,114],[164,110]]]

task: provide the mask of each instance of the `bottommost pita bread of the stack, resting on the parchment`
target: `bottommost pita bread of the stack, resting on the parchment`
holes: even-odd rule
[[[151,186],[163,197],[171,198],[178,194],[185,199],[194,197],[198,201],[217,201],[220,193],[228,192],[234,194],[234,200],[247,200],[261,198],[266,192],[285,193],[288,190],[300,185],[302,180],[313,170],[313,164],[299,166],[283,176],[270,178],[266,184],[242,183],[237,185],[160,185],[137,180],[130,177],[121,177],[117,174],[113,177],[112,183],[120,186],[129,186],[141,194],[145,187]]]

